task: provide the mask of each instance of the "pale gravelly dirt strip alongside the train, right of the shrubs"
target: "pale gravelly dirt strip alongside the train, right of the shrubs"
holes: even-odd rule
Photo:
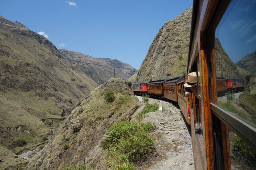
[[[191,138],[180,109],[167,101],[150,99],[149,102],[160,104],[163,110],[147,113],[143,119],[156,123],[153,135],[158,157],[142,169],[194,170]]]

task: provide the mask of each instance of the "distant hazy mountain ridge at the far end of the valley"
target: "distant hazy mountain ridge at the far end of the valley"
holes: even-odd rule
[[[113,69],[115,68],[115,77],[128,79],[137,70],[119,60],[111,60],[109,58],[93,58],[83,53],[68,51],[66,49],[58,49],[61,55],[69,61],[73,69],[76,69],[93,79],[98,84],[106,82],[113,77]]]

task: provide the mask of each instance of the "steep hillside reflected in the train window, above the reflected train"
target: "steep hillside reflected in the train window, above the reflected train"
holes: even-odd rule
[[[217,77],[240,77],[236,65],[223,49],[218,38],[215,38],[215,60]]]

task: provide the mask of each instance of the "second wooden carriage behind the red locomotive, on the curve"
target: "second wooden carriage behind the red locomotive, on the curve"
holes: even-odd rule
[[[166,80],[163,83],[164,97],[174,102],[178,102],[176,82],[180,77]]]

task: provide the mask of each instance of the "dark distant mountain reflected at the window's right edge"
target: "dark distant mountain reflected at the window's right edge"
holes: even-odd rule
[[[250,73],[256,73],[256,51],[245,56],[243,59],[238,61],[236,65],[249,71]]]

